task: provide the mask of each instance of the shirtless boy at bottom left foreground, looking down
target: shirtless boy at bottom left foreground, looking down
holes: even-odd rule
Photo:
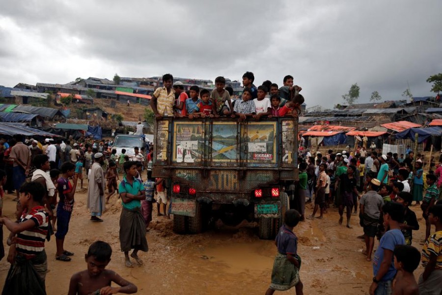
[[[137,286],[123,279],[115,271],[105,269],[111,261],[112,248],[103,241],[90,245],[84,255],[87,269],[71,277],[68,295],[109,295],[137,293]],[[114,282],[120,287],[111,287]]]

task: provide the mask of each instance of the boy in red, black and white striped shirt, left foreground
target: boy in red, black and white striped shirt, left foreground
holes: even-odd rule
[[[48,234],[48,212],[42,206],[45,188],[37,182],[25,182],[20,188],[19,202],[23,213],[19,223],[6,217],[0,224],[17,235],[16,244],[10,251],[15,253],[11,262],[2,294],[19,295],[46,294],[45,278],[48,262],[45,252],[45,239]],[[10,252],[11,253],[11,252]]]

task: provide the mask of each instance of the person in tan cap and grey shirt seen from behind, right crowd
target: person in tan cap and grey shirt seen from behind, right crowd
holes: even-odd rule
[[[360,198],[359,202],[359,212],[362,216],[364,228],[365,254],[367,255],[367,261],[371,261],[374,237],[378,232],[379,218],[381,216],[382,206],[384,206],[384,200],[382,200],[382,197],[377,193],[380,185],[381,182],[379,179],[372,179],[368,186],[367,193]]]

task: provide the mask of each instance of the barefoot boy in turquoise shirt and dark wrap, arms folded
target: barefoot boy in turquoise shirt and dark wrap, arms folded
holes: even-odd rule
[[[119,192],[123,209],[120,215],[120,245],[124,252],[126,267],[134,267],[129,259],[129,251],[134,249],[131,257],[139,265],[143,262],[138,258],[138,251],[147,252],[146,224],[141,214],[141,200],[144,200],[144,186],[135,178],[138,175],[137,164],[129,161],[124,163],[126,177],[120,182]]]

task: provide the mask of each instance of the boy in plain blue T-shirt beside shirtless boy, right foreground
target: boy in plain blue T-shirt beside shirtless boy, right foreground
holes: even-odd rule
[[[400,224],[404,221],[405,207],[399,203],[389,202],[382,207],[384,224],[387,232],[379,241],[373,256],[373,283],[370,295],[391,294],[391,282],[396,275],[393,251],[397,245],[404,245],[405,238]]]

